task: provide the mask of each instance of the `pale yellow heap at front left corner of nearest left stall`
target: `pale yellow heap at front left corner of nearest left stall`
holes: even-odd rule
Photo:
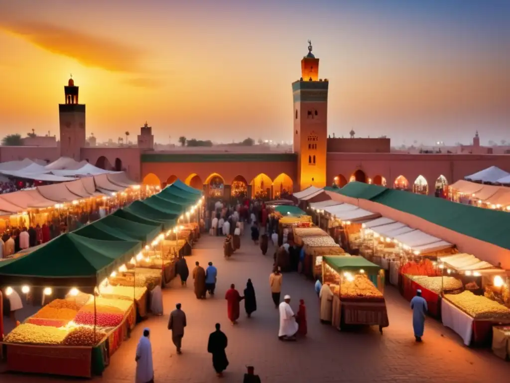
[[[66,328],[23,323],[9,332],[4,338],[4,342],[58,345],[62,343],[67,332]]]

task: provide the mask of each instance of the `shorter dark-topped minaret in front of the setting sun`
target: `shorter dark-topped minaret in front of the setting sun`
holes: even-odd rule
[[[80,161],[85,147],[85,105],[78,104],[78,86],[71,78],[64,86],[65,104],[59,104],[60,155]]]

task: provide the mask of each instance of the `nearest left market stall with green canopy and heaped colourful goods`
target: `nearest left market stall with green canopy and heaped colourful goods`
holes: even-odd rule
[[[101,373],[134,326],[135,310],[134,289],[131,297],[108,299],[98,288],[140,249],[139,242],[69,233],[0,262],[6,295],[16,290],[36,310],[3,339],[7,369],[81,377]]]

